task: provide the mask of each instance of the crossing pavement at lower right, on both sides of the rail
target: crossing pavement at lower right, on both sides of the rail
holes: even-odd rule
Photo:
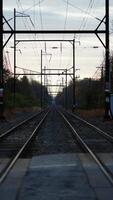
[[[113,154],[98,154],[106,166],[113,172]],[[81,164],[87,174],[90,185],[97,196],[98,200],[113,200],[113,186],[103,175],[98,165],[90,158],[89,155],[79,154]]]

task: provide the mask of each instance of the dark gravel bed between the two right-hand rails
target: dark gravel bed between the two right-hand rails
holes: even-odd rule
[[[64,115],[68,118],[69,122],[78,132],[78,134],[83,138],[83,140],[88,144],[88,146],[95,153],[112,153],[113,152],[113,143],[109,142],[106,138],[104,138],[101,134],[99,134],[95,129],[86,125],[85,123],[82,123],[80,120],[73,118],[66,112],[64,112]]]

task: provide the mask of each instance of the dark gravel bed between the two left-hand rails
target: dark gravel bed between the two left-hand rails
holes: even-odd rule
[[[7,158],[18,152],[18,150],[32,134],[43,116],[44,112],[30,120],[28,123],[23,124],[21,127],[17,128],[6,138],[0,141],[0,157]]]

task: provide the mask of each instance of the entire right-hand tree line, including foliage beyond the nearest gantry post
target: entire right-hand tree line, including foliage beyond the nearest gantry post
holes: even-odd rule
[[[113,55],[110,57],[111,72],[111,92],[113,93]],[[84,78],[82,80],[76,79],[76,107],[82,109],[93,109],[104,107],[104,83],[105,83],[105,64],[101,65],[102,73],[100,79]],[[67,101],[66,101],[67,93]],[[67,88],[56,96],[56,103],[59,105],[72,108],[73,106],[73,82],[71,81]]]

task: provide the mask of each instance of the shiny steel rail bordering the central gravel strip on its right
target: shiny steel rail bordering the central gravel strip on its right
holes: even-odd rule
[[[88,147],[88,145],[83,141],[83,139],[80,137],[80,135],[77,133],[77,131],[74,129],[74,127],[71,125],[71,123],[68,121],[68,119],[62,114],[60,111],[58,111],[61,117],[64,119],[66,124],[70,127],[70,129],[73,132],[74,137],[78,140],[79,144],[82,145],[82,147],[87,151],[93,160],[98,164],[99,168],[103,172],[103,174],[107,177],[109,182],[113,185],[113,174],[110,172],[110,170],[104,165],[104,163],[98,158],[98,156]]]

